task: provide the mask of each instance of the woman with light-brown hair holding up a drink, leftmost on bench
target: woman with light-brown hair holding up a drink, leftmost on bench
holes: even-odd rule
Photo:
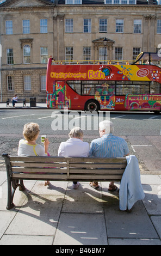
[[[39,136],[39,125],[36,123],[28,123],[24,125],[23,137],[18,144],[18,156],[47,156],[48,153],[48,138],[45,138],[44,147],[36,144],[36,139]],[[45,186],[49,181],[45,182]]]

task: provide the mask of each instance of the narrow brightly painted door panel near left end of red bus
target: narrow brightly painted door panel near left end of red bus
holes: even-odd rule
[[[55,105],[65,105],[65,81],[55,81]]]

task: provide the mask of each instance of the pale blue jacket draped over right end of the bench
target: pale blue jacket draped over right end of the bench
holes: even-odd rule
[[[140,169],[137,157],[130,155],[126,157],[127,167],[122,175],[120,184],[120,210],[130,210],[132,206],[145,194],[140,180]]]

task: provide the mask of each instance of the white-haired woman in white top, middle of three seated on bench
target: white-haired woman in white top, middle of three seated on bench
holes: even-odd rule
[[[70,139],[61,142],[58,149],[58,156],[88,156],[89,144],[83,142],[83,131],[79,127],[74,127],[69,133]],[[73,188],[76,189],[79,182],[73,182]]]

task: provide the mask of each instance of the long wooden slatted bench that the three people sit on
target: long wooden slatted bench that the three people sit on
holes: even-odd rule
[[[121,181],[127,166],[126,157],[9,156],[5,159],[8,180],[7,210],[14,207],[17,187],[25,190],[23,180],[50,181]]]

